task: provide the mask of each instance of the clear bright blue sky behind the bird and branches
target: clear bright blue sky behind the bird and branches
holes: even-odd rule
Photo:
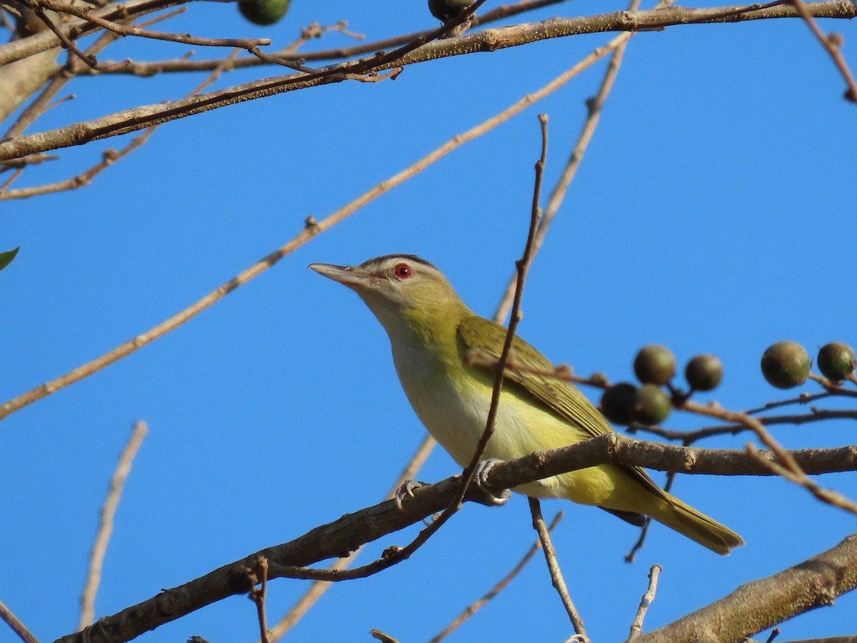
[[[229,4],[194,3],[162,27],[270,36],[276,46],[313,20],[345,19],[370,38],[435,24],[422,2],[377,0],[370,12],[341,0],[318,4],[297,0],[284,21],[263,28],[240,21]],[[614,9],[620,6],[563,3],[531,19]],[[845,56],[857,67],[854,25],[822,25],[843,33]],[[209,112],[165,125],[85,189],[3,201],[0,249],[20,245],[21,252],[0,273],[0,396],[9,400],[153,327],[285,243],[308,215],[321,219],[609,37],[446,59],[405,69],[396,81],[318,87]],[[307,51],[346,44],[333,33]],[[109,57],[184,51],[124,39]],[[540,145],[536,114],[549,117],[547,190],[604,66],[459,148],[177,331],[3,420],[0,599],[39,639],[74,628],[97,511],[137,419],[149,434],[118,509],[98,615],[378,502],[423,428],[399,388],[381,326],[350,291],[307,264],[415,253],[440,267],[478,313],[493,314],[524,244]],[[254,73],[225,75],[218,86]],[[31,131],[178,98],[201,78],[82,78],[69,88],[78,98]],[[530,272],[519,334],[555,362],[616,381],[632,376],[644,344],[670,346],[680,364],[714,352],[724,382],[700,399],[741,409],[790,397],[758,370],[766,346],[797,340],[814,354],[827,341],[857,343],[857,114],[843,91],[800,21],[635,36]],[[119,144],[63,151],[20,184],[68,177]],[[703,423],[675,416],[666,425]],[[854,442],[847,423],[785,426],[775,435],[788,448]],[[748,440],[703,446],[742,448]],[[436,451],[418,478],[454,472]],[[853,475],[823,484],[857,498]],[[686,477],[674,492],[740,532],[746,546],[721,558],[656,528],[628,565],[622,556],[637,536],[632,527],[592,508],[544,504],[548,517],[566,511],[554,544],[594,640],[626,637],[652,563],[663,572],[646,630],[854,531],[853,516],[773,478]],[[382,538],[362,561],[415,533]],[[410,561],[334,587],[291,640],[370,640],[370,628],[426,640],[506,574],[534,538],[521,497],[506,508],[466,507]],[[272,584],[272,620],[304,587]],[[786,623],[783,639],[854,634],[855,600]],[[571,631],[536,558],[451,640],[562,640]],[[254,640],[253,605],[231,598],[141,640],[191,634]]]

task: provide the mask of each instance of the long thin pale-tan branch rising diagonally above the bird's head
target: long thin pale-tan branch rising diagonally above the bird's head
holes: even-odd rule
[[[378,196],[417,175],[417,173],[423,171],[428,167],[428,165],[431,165],[436,160],[446,156],[446,154],[452,152],[452,150],[457,147],[472,141],[490,129],[494,129],[500,125],[500,123],[504,123],[520,111],[524,111],[526,107],[529,107],[533,103],[547,96],[549,93],[559,89],[575,75],[578,75],[581,71],[590,67],[591,64],[596,63],[600,58],[606,56],[610,51],[612,51],[612,48],[615,45],[618,45],[618,43],[622,42],[626,38],[628,38],[628,34],[621,34],[614,38],[609,45],[590,52],[590,54],[584,57],[583,60],[576,63],[571,69],[568,69],[563,74],[554,78],[553,81],[548,82],[544,87],[536,90],[536,92],[527,94],[505,110],[500,111],[500,113],[488,118],[488,120],[483,121],[482,123],[479,123],[476,127],[468,129],[464,134],[453,136],[452,139],[446,141],[446,143],[437,147],[434,151],[426,154],[422,159],[418,159],[415,163],[409,165],[404,170],[399,171],[399,173],[388,178],[386,181],[378,183],[375,187],[364,192],[363,195],[358,196],[353,201],[346,203],[345,206],[340,207],[338,210],[328,215],[327,218],[318,222],[316,222],[315,219],[311,222],[308,221],[308,225],[305,226],[304,230],[296,237],[292,238],[290,242],[285,243],[283,246],[279,247],[279,249],[274,250],[272,253],[262,258],[261,261],[257,261],[252,266],[243,270],[243,272],[238,273],[224,285],[221,285],[216,290],[208,293],[206,297],[202,297],[199,301],[188,308],[183,309],[176,315],[165,320],[165,322],[159,323],[159,325],[149,329],[146,333],[138,335],[134,339],[117,346],[111,352],[107,352],[101,357],[93,359],[93,361],[83,364],[63,376],[59,376],[56,379],[51,380],[51,382],[45,382],[45,384],[27,391],[27,393],[21,394],[15,399],[3,403],[0,405],[0,420],[8,416],[9,413],[18,411],[28,404],[32,404],[37,400],[41,400],[42,398],[55,393],[60,388],[64,388],[74,382],[78,382],[84,377],[91,376],[93,373],[105,368],[105,366],[117,362],[119,359],[135,352],[142,346],[146,346],[149,342],[158,339],[175,328],[178,328],[184,322],[187,322],[195,315],[201,313],[202,310],[207,309],[208,306],[219,301],[219,299],[225,297],[231,291],[234,291],[238,286],[247,283],[249,279],[253,279],[256,275],[267,270],[267,268],[272,267],[285,255],[288,255],[294,249],[297,249],[304,243],[307,243],[309,239],[315,237],[315,235],[326,231],[331,226],[336,225],[339,221],[348,217],[351,213],[356,212],[360,207],[363,207],[370,201],[375,200]]]

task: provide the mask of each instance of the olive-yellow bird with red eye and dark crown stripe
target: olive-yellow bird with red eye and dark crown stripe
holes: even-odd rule
[[[443,273],[417,255],[309,267],[363,299],[387,331],[399,382],[417,417],[458,466],[467,466],[494,386],[493,371],[470,364],[469,356],[476,351],[499,358],[506,328],[476,315]],[[486,459],[512,460],[613,431],[578,388],[551,376],[554,365],[542,353],[517,336],[512,352]],[[593,505],[638,526],[649,516],[722,555],[744,544],[728,527],[662,490],[638,466],[590,466],[513,491]]]

